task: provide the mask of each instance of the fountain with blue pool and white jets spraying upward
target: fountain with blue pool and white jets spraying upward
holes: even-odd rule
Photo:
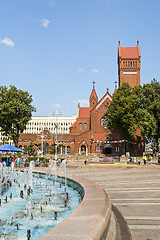
[[[24,171],[14,169],[14,164],[7,169],[0,163],[0,239],[36,240],[81,201],[73,182],[67,184],[65,160],[53,160],[50,175],[33,173],[33,169],[34,162]]]

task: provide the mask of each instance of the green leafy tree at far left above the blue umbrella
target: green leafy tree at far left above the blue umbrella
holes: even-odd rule
[[[18,145],[19,134],[26,129],[35,107],[31,105],[32,95],[15,86],[0,87],[1,131]]]

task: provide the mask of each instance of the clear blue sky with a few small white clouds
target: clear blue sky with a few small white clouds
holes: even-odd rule
[[[27,90],[34,116],[77,113],[118,80],[118,41],[141,50],[141,84],[160,79],[159,0],[0,0],[0,84]]]

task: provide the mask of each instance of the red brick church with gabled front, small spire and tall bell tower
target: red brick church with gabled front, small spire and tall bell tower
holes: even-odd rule
[[[121,47],[119,42],[119,86],[121,86],[123,82],[128,82],[132,88],[139,85],[140,66],[141,54],[139,41],[137,41],[136,47]],[[58,135],[61,154],[125,154],[124,139],[120,139],[118,134],[108,130],[107,124],[103,119],[111,101],[112,96],[109,93],[109,89],[107,89],[106,94],[98,101],[95,82],[93,82],[93,89],[89,97],[89,107],[80,107],[80,104],[78,104],[77,119],[70,127],[70,133]],[[37,141],[38,139],[35,138],[35,142]],[[52,141],[50,143],[52,143]],[[130,143],[129,151],[131,155],[142,154],[140,136],[135,136],[135,143]]]

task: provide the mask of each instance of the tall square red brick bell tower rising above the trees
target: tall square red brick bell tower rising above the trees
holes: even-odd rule
[[[139,41],[136,47],[118,46],[118,78],[119,87],[124,82],[134,88],[140,84],[141,53]]]

